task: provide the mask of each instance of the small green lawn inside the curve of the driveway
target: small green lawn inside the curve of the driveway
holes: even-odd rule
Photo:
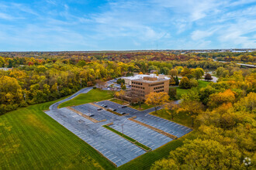
[[[92,89],[88,93],[81,93],[72,100],[68,100],[59,105],[59,107],[77,106],[88,104],[100,100],[108,100],[112,98],[112,93],[109,90]]]

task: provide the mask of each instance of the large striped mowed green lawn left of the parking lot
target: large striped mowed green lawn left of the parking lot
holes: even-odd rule
[[[114,168],[85,141],[43,113],[53,103],[0,116],[0,169]]]

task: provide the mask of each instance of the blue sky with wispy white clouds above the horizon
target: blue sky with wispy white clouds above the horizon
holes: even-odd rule
[[[256,48],[256,0],[2,0],[0,51]]]

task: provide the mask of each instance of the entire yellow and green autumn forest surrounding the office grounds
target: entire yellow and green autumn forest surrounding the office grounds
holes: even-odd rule
[[[186,139],[151,169],[248,168],[244,162],[255,165],[256,160],[256,71],[235,61],[254,63],[255,54],[1,53],[0,66],[12,70],[0,70],[0,114],[66,97],[83,87],[95,86],[97,80],[157,70],[170,75],[173,85],[178,83],[177,76],[183,76],[179,86],[189,89],[182,94],[181,104],[171,103],[177,98],[176,92],[165,97],[168,104],[162,110],[164,117],[172,120],[179,114],[188,115],[191,124],[187,126],[196,131],[195,138]],[[199,88],[198,80],[204,73],[219,80]]]

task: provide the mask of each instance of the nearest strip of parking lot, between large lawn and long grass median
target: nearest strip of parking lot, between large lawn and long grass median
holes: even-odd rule
[[[130,162],[146,153],[137,145],[103,128],[102,124],[106,124],[104,122],[94,124],[67,108],[46,111],[46,114],[91,145],[116,166]]]

